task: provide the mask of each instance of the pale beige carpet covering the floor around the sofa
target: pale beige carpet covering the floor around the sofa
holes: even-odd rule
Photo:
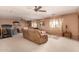
[[[79,41],[49,35],[48,42],[37,45],[18,34],[11,38],[0,39],[0,51],[8,52],[74,52],[79,51]]]

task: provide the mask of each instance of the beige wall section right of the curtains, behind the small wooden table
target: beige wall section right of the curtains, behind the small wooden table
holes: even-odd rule
[[[63,16],[63,29],[65,30],[65,25],[68,25],[69,31],[71,31],[73,38],[78,38],[78,14],[70,14]]]

